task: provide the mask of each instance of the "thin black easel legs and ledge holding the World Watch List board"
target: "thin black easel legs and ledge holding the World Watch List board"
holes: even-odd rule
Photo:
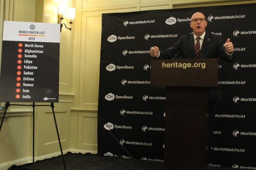
[[[62,147],[61,147],[61,143],[60,143],[60,135],[59,135],[59,131],[58,131],[58,127],[57,127],[57,122],[56,122],[56,117],[55,117],[55,113],[54,113],[54,102],[51,102],[51,105],[35,105],[35,103],[33,103],[33,105],[22,105],[22,104],[10,104],[9,101],[6,101],[5,104],[5,111],[4,111],[4,115],[0,124],[0,131],[4,122],[4,117],[5,114],[7,112],[7,109],[10,105],[15,105],[15,106],[32,106],[33,107],[33,163],[34,163],[34,142],[35,142],[35,106],[50,106],[52,108],[52,113],[53,113],[53,118],[54,118],[54,122],[55,122],[55,127],[56,127],[56,131],[57,131],[57,136],[58,136],[58,140],[59,140],[59,145],[60,145],[60,152],[61,152],[61,157],[62,157],[62,161],[63,161],[63,165],[64,165],[64,169],[66,170],[66,165],[65,165],[65,160],[64,160],[64,156],[63,156],[63,151],[62,151]]]

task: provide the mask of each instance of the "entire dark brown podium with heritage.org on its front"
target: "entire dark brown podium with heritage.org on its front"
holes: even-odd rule
[[[151,60],[151,86],[166,86],[164,169],[207,169],[208,88],[217,85],[217,58]]]

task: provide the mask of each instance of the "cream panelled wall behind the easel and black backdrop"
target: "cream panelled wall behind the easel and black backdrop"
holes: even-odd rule
[[[0,0],[0,39],[3,20],[57,23],[57,1]],[[97,153],[102,13],[256,3],[256,0],[67,1],[76,7],[76,19],[71,31],[63,28],[61,32],[60,101],[54,104],[64,153]],[[64,22],[69,26],[67,19]],[[0,170],[32,160],[32,113],[31,107],[12,106],[8,109],[0,131]],[[0,111],[1,115],[3,111]],[[50,106],[35,107],[35,160],[56,155],[60,155],[60,150],[52,109]]]

